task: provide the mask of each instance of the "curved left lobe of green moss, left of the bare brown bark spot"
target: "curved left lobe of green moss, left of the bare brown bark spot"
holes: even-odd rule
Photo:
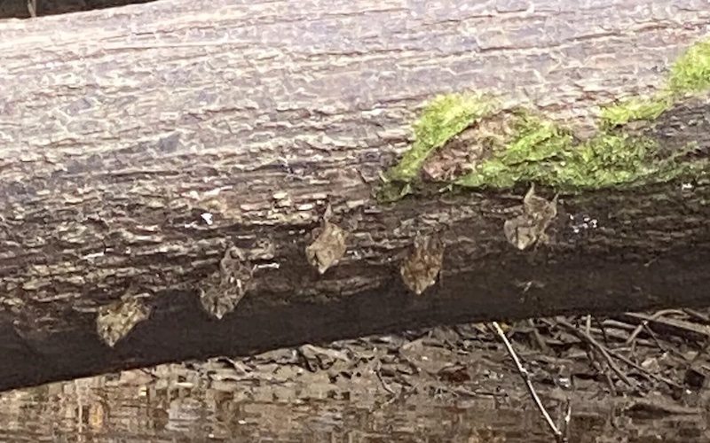
[[[477,119],[493,112],[493,102],[474,94],[446,94],[435,97],[414,123],[414,144],[387,174],[390,180],[410,181],[419,174],[431,152]]]

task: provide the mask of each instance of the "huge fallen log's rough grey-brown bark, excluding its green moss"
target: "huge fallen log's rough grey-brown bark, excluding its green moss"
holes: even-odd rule
[[[694,0],[176,0],[0,21],[0,388],[710,304],[702,167],[580,191],[385,183],[438,94],[593,139],[604,106],[652,97],[708,26]],[[706,92],[653,109],[624,134],[702,166]],[[462,140],[427,170],[469,165]]]

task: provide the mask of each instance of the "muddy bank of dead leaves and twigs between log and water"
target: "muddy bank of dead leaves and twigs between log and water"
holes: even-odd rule
[[[598,319],[541,318],[508,323],[504,334],[549,416],[562,424],[560,429],[572,430],[569,441],[591,441],[574,433],[590,408],[597,422],[608,421],[606,431],[596,428],[604,436],[638,436],[643,426],[649,432],[644,436],[658,435],[654,424],[659,420],[705,429],[710,355],[698,331],[710,326],[707,318],[678,309]],[[237,404],[320,400],[380,408],[491,401],[495,408],[532,409],[504,346],[473,323],[122,374],[122,383],[147,384],[158,392],[208,389],[215,398]],[[572,411],[569,428],[565,410]]]

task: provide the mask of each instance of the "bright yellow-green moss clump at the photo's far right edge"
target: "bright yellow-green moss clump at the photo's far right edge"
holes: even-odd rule
[[[675,60],[668,83],[675,94],[710,89],[710,40],[694,44]]]

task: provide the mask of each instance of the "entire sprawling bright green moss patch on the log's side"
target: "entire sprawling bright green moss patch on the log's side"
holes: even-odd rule
[[[707,160],[682,159],[691,146],[669,157],[660,152],[658,142],[628,131],[625,125],[655,120],[682,97],[706,89],[710,89],[710,41],[697,43],[678,58],[667,84],[655,96],[632,97],[605,107],[600,132],[587,141],[575,140],[570,130],[530,111],[503,111],[482,96],[438,96],[414,124],[414,144],[384,176],[383,188],[392,199],[404,196],[422,167],[430,166],[426,162],[431,152],[453,143],[464,129],[465,143],[471,146],[466,156],[473,157],[467,164],[470,172],[445,183],[466,188],[539,183],[556,190],[596,190],[665,183],[697,174],[706,170]],[[490,128],[505,130],[490,134]],[[433,166],[430,169],[436,170],[438,165]]]

